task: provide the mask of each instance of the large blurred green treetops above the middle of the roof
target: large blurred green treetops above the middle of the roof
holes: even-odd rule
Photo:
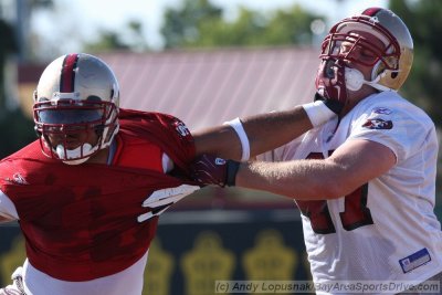
[[[161,29],[166,48],[309,44],[311,23],[320,18],[296,4],[269,13],[241,7],[233,21],[222,12],[208,0],[186,0],[183,7],[168,9]]]

